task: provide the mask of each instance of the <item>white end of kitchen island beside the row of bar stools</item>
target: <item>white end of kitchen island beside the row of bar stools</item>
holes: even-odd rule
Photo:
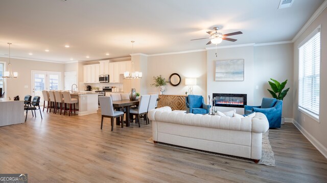
[[[78,104],[76,108],[78,108],[78,115],[89,115],[91,113],[97,113],[98,106],[98,96],[99,94],[96,92],[79,92],[75,94],[71,94],[72,98],[78,99]]]

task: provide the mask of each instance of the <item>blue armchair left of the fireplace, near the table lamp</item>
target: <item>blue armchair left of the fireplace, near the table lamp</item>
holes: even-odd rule
[[[205,114],[209,113],[211,105],[206,105],[204,99],[199,95],[189,95],[185,99],[186,113]]]

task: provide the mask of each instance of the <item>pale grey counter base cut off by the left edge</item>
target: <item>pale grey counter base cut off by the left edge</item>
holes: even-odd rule
[[[0,99],[0,126],[24,123],[24,101]]]

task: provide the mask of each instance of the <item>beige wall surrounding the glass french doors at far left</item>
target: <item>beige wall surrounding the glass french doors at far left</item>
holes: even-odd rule
[[[1,58],[1,61],[9,62],[9,58]],[[6,97],[19,96],[20,99],[26,95],[32,95],[32,74],[31,71],[55,71],[61,72],[62,88],[64,78],[64,64],[53,62],[42,62],[34,60],[14,59],[11,58],[12,70],[18,72],[17,78],[7,78]],[[7,64],[8,67],[8,64]],[[25,88],[25,86],[28,86]]]

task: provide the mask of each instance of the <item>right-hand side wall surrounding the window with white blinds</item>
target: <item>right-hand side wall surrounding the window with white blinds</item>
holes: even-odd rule
[[[325,9],[314,22],[303,32],[294,42],[294,102],[293,102],[293,112],[294,120],[296,125],[302,130],[307,138],[316,147],[325,154],[327,157],[327,73],[325,69],[327,68],[327,9]],[[321,41],[321,52],[320,52],[320,111],[319,111],[319,121],[320,123],[314,121],[312,118],[307,116],[305,113],[298,110],[298,44],[304,40],[315,28],[321,25],[320,41]]]

